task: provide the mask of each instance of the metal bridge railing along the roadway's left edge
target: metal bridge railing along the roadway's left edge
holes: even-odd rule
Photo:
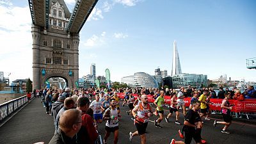
[[[33,99],[34,95],[31,94],[31,99]],[[0,122],[4,120],[4,118],[10,116],[12,113],[17,111],[17,109],[21,108],[28,102],[28,97],[26,95],[19,97],[17,99],[9,100],[8,102],[4,102],[0,104]]]

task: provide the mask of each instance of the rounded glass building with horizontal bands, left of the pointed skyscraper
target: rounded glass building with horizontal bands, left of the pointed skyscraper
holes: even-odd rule
[[[134,76],[122,77],[122,83],[126,83],[130,88],[158,88],[154,77],[145,72],[136,72]]]

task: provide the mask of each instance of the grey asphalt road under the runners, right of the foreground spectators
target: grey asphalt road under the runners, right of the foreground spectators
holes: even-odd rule
[[[129,132],[136,131],[136,127],[133,124],[133,120],[131,120],[131,116],[128,116],[126,111],[129,109],[128,106],[120,107],[121,115],[120,123],[119,123],[119,137],[118,143],[129,144]],[[165,109],[164,115],[168,115],[168,108]],[[180,111],[181,112],[181,111]],[[169,118],[170,123],[166,123],[164,120],[161,122],[162,129],[159,129],[154,126],[154,120],[156,120],[156,116],[152,116],[148,123],[147,127],[147,143],[148,144],[167,144],[170,143],[170,140],[174,138],[175,140],[183,140],[179,138],[178,130],[182,129],[183,125],[175,124],[175,114],[171,118]],[[204,120],[204,127],[202,129],[202,138],[207,140],[207,143],[225,143],[225,144],[242,144],[242,143],[256,143],[256,125],[245,124],[241,122],[233,122],[232,125],[228,128],[230,134],[221,133],[221,129],[223,125],[216,125],[213,127],[214,120],[220,120],[216,118],[211,118],[211,120]],[[180,123],[183,124],[184,116],[180,115],[179,118]],[[104,138],[104,124],[100,124],[99,132]],[[109,136],[108,143],[113,143],[113,134]],[[132,143],[140,143],[140,136],[135,136],[132,138]],[[195,141],[192,140],[192,143]]]

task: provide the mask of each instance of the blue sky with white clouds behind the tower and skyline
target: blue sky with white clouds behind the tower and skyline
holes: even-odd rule
[[[75,0],[65,0],[70,12]],[[172,72],[173,41],[183,73],[218,79],[255,81],[254,0],[99,0],[80,31],[79,77],[90,74],[111,81],[134,72]],[[10,81],[32,79],[31,14],[28,1],[0,0],[0,71]]]

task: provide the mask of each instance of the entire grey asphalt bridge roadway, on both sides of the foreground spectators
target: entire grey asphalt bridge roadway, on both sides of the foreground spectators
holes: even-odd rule
[[[128,144],[129,132],[135,131],[135,126],[131,120],[131,116],[128,116],[125,111],[127,106],[121,107],[119,140],[120,144]],[[164,111],[165,114],[168,111]],[[154,120],[156,116],[150,118]],[[181,120],[180,122],[183,122]],[[215,119],[215,118],[214,118]],[[170,118],[171,123],[161,122],[162,129],[154,127],[154,124],[150,122],[147,127],[147,143],[148,144],[168,144],[171,138],[182,140],[179,138],[177,131],[182,129],[182,125],[174,124],[174,116]],[[246,124],[242,122],[233,122],[229,127],[231,134],[221,133],[223,125],[217,125],[215,128],[212,126],[213,120],[205,121],[204,128],[202,129],[202,138],[207,140],[207,143],[216,144],[240,144],[240,143],[255,143],[256,141],[256,125]],[[104,136],[104,124],[99,125],[99,132]],[[13,118],[0,127],[0,143],[20,143],[20,144],[32,144],[39,141],[49,143],[54,134],[54,126],[52,122],[52,116],[45,114],[45,108],[40,103],[39,98],[35,98]],[[113,143],[113,134],[109,137],[108,143]],[[140,143],[138,136],[132,139],[132,143]],[[195,141],[192,141],[195,143]]]

